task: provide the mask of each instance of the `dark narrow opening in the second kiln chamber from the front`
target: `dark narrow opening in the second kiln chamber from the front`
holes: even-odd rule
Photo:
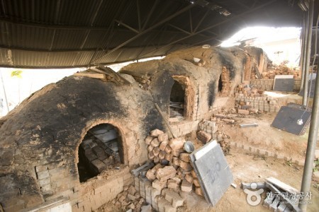
[[[169,100],[169,117],[184,117],[185,85],[174,81]]]

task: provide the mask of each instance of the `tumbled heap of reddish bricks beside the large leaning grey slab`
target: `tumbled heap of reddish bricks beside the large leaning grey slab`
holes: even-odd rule
[[[146,172],[152,187],[158,190],[169,188],[178,192],[191,192],[203,196],[201,186],[191,166],[189,153],[184,150],[184,139],[168,139],[168,135],[159,129],[152,130],[145,139],[150,160],[155,167]]]

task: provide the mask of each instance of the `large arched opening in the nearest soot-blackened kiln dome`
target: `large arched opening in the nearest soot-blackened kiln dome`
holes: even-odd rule
[[[79,145],[79,181],[86,182],[123,161],[123,142],[118,129],[111,124],[96,125],[86,132]]]

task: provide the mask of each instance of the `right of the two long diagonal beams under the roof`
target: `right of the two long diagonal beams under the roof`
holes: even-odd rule
[[[252,9],[250,9],[250,10],[247,10],[247,11],[245,11],[245,12],[243,12],[243,13],[240,13],[240,14],[237,14],[237,15],[235,15],[235,16],[232,16],[231,18],[228,18],[228,19],[225,19],[225,20],[223,20],[223,21],[220,21],[219,23],[213,24],[213,25],[209,26],[208,28],[204,28],[204,29],[202,29],[202,30],[197,31],[196,33],[192,33],[191,35],[188,35],[188,36],[186,36],[186,37],[182,37],[182,38],[180,38],[179,40],[175,40],[174,42],[170,42],[169,44],[164,45],[163,47],[161,47],[161,48],[159,48],[159,49],[164,49],[164,48],[166,48],[166,47],[168,47],[168,46],[170,46],[170,45],[176,44],[177,42],[181,42],[182,40],[185,40],[185,39],[187,39],[187,38],[189,38],[189,37],[193,37],[194,35],[198,35],[199,33],[203,33],[203,32],[205,32],[205,31],[207,31],[207,30],[211,30],[212,28],[216,28],[216,27],[219,26],[219,25],[222,25],[222,24],[224,24],[224,23],[228,23],[230,20],[234,20],[235,18],[239,18],[239,17],[241,17],[241,16],[244,16],[244,15],[247,14],[247,13],[252,13],[253,11],[256,11],[256,10],[258,10],[258,9],[260,9],[260,8],[263,8],[264,6],[267,6],[267,5],[269,5],[269,4],[272,4],[272,3],[274,3],[275,1],[277,1],[277,0],[267,1],[267,3],[264,3],[264,4],[262,4],[262,5],[259,5],[259,6],[255,7],[255,8],[252,8]],[[216,38],[216,37],[215,37],[215,38]],[[156,52],[156,51],[158,51],[159,49],[155,49],[155,50],[153,50],[152,52]],[[147,54],[150,54],[150,53],[152,53],[152,52],[148,52]],[[145,55],[145,54],[144,54],[144,55]],[[142,56],[143,56],[143,55],[142,55]]]

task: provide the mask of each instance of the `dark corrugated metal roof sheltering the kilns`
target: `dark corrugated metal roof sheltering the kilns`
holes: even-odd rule
[[[0,66],[55,68],[113,64],[162,56],[192,45],[216,45],[218,40],[247,25],[300,26],[302,12],[296,2],[291,3],[2,0]],[[231,15],[223,16],[216,5]]]

